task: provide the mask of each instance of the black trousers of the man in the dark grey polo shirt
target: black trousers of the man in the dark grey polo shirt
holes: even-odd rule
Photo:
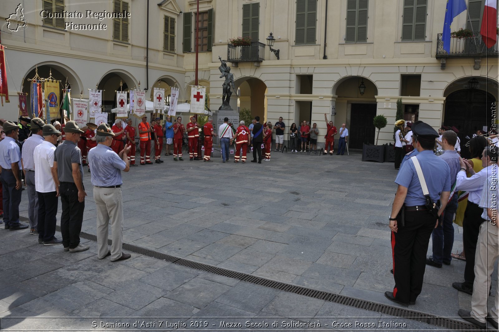
[[[60,182],[61,196],[61,234],[62,245],[65,248],[75,248],[80,243],[81,224],[85,201],[78,201],[78,188],[73,182]]]

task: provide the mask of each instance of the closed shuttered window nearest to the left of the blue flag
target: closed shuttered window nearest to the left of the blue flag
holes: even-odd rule
[[[404,0],[402,41],[426,40],[428,0]]]

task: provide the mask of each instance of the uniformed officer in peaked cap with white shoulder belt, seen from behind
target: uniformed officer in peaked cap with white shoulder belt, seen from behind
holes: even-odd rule
[[[414,147],[419,151],[413,158],[416,158],[421,166],[429,196],[437,203],[440,216],[449,200],[451,171],[447,162],[433,153],[437,131],[424,122],[414,125],[412,131]],[[393,291],[386,291],[385,296],[404,306],[415,304],[421,293],[428,242],[438,222],[437,217],[426,206],[426,198],[413,158],[409,158],[400,167],[395,179],[398,188],[389,217],[395,287]]]

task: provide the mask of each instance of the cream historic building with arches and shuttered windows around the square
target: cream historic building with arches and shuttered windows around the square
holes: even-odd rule
[[[448,54],[441,40],[443,0],[200,0],[199,84],[208,87],[209,107],[217,110],[221,56],[232,66],[240,107],[272,122],[282,116],[287,126],[317,122],[319,137],[327,113],[338,127],[347,124],[350,147],[374,142],[376,114],[389,123],[379,143],[392,141],[399,97],[407,120],[435,128],[444,122],[457,126],[462,138],[471,136],[490,126],[499,66],[497,43],[487,49],[479,34],[484,0],[467,3],[451,30],[467,28],[475,36],[451,38]],[[120,80],[125,89],[140,81],[151,93],[153,86],[176,84],[180,98],[190,98],[196,0],[29,0],[23,2],[28,26],[12,31],[5,19],[18,4],[0,2],[12,100],[0,108],[2,117],[17,116],[17,91],[23,85],[28,92],[36,66],[42,77],[51,69],[55,78],[67,78],[73,96],[88,96],[96,85],[104,89],[105,110],[115,107]],[[130,17],[107,17],[123,11]],[[278,53],[269,50],[270,32]],[[238,36],[250,36],[251,43],[229,43]]]

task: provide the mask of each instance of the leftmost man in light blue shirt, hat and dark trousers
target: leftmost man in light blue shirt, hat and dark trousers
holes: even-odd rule
[[[19,127],[12,121],[3,122],[5,138],[0,141],[0,180],[3,192],[3,222],[5,229],[25,229],[28,225],[19,222],[21,202],[21,152],[15,143]]]

